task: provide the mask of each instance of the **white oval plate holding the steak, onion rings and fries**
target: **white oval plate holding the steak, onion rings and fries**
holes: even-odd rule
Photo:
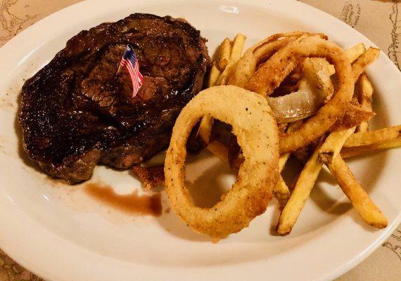
[[[49,280],[330,280],[371,254],[400,222],[401,150],[350,161],[352,171],[388,216],[389,226],[364,226],[348,200],[322,173],[291,235],[271,235],[275,202],[250,228],[212,244],[186,228],[173,212],[132,216],[99,204],[79,186],[50,181],[22,158],[15,114],[23,79],[37,72],[80,30],[129,13],[189,20],[207,38],[210,53],[224,37],[241,32],[247,45],[274,32],[324,32],[348,48],[373,44],[330,15],[297,1],[89,0],[59,11],[21,32],[0,50],[0,247]],[[374,126],[399,124],[401,75],[381,53],[369,67],[377,90]],[[214,192],[233,178],[217,159],[203,155],[188,177]],[[91,182],[121,193],[140,189],[126,172],[97,167]],[[216,188],[217,188],[216,187]],[[168,207],[163,197],[164,208]],[[222,279],[224,278],[224,279]]]

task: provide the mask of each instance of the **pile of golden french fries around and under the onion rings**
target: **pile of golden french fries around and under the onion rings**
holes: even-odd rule
[[[245,40],[244,35],[238,34],[234,41],[230,41],[228,38],[222,41],[217,59],[212,63],[210,70],[209,87],[227,84],[229,75],[236,66],[236,62],[241,58]],[[359,91],[354,93],[357,106],[362,110],[373,112],[374,88],[364,70],[376,60],[380,50],[377,48],[366,49],[364,44],[361,43],[348,49],[345,53],[352,63],[355,84],[359,83]],[[289,123],[286,126],[286,131],[296,130],[302,124],[302,120]],[[227,145],[210,139],[212,125],[213,120],[210,117],[203,117],[198,129],[198,137],[207,145],[208,150],[219,159],[228,162],[229,148]],[[303,150],[280,155],[280,173],[291,155],[300,158],[305,164],[300,174],[295,178],[292,191],[281,176],[276,182],[274,196],[279,201],[279,208],[281,209],[281,216],[277,225],[279,235],[291,233],[323,165],[327,166],[362,220],[376,228],[385,228],[388,223],[386,216],[371,201],[344,159],[400,146],[401,125],[369,131],[368,122],[363,121],[350,129],[338,129],[331,131],[328,136],[323,136],[319,143],[310,145],[309,149],[312,150],[312,153]],[[241,165],[241,162],[240,156],[236,159],[234,166]]]

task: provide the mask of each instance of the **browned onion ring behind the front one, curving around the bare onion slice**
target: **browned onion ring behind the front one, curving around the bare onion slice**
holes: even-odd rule
[[[354,93],[350,60],[337,44],[319,37],[301,37],[289,43],[262,64],[248,81],[246,89],[269,96],[281,81],[306,57],[322,57],[336,69],[338,88],[333,98],[298,131],[284,133],[280,138],[280,153],[292,152],[317,140],[342,116]]]

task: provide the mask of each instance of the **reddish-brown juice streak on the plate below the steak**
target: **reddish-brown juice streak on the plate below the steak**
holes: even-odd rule
[[[120,195],[109,185],[98,183],[85,185],[85,192],[96,200],[128,214],[151,216],[160,216],[162,214],[163,208],[160,194],[139,195],[138,190],[135,190],[131,194]]]

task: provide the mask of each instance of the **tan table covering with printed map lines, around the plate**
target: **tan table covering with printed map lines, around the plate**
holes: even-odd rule
[[[46,15],[79,1],[82,0],[0,0],[0,46]],[[400,68],[400,0],[302,1],[330,13],[366,35]],[[0,250],[0,281],[11,280],[42,279],[19,266]],[[401,226],[374,254],[338,280],[401,280]]]

